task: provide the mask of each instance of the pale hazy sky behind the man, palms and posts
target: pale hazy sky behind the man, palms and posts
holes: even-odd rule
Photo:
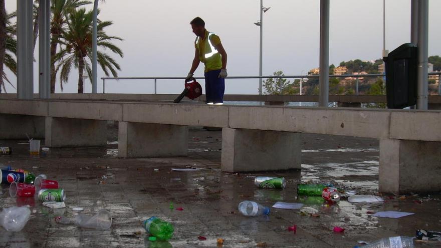
[[[383,49],[382,0],[330,1],[329,64],[354,59],[379,59]],[[320,1],[264,0],[271,7],[263,16],[263,75],[283,71],[304,75],[319,65]],[[93,6],[87,7],[92,9]],[[17,0],[6,0],[8,12],[17,10]],[[217,34],[228,54],[229,76],[259,75],[259,0],[106,0],[99,4],[98,18],[113,21],[108,35],[124,41],[114,43],[124,58],[109,54],[120,64],[119,77],[185,77],[194,57],[195,35],[189,22],[205,21],[205,28]],[[410,0],[386,0],[386,49],[392,51],[410,42]],[[441,1],[429,0],[428,55],[441,56]],[[37,44],[38,46],[38,44]],[[35,49],[34,92],[38,93],[38,48]],[[99,67],[99,66],[98,66]],[[7,71],[16,83],[14,75]],[[98,92],[102,92],[98,70]],[[73,69],[63,93],[76,93],[78,71]],[[203,64],[194,73],[203,76]],[[203,80],[198,80],[204,88]],[[258,94],[258,79],[227,79],[226,94]],[[106,81],[106,93],[154,93],[153,80]],[[158,94],[177,94],[183,80],[158,80]],[[8,93],[16,90],[7,85]],[[86,79],[84,92],[91,93]],[[62,93],[57,79],[56,93]]]

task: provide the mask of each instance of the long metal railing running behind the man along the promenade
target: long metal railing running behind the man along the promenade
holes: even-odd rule
[[[441,72],[430,72],[428,75],[441,75]],[[356,78],[355,82],[355,92],[356,95],[358,95],[358,85],[359,85],[359,78],[364,77],[384,77],[384,74],[342,74],[342,75],[329,75],[330,78]],[[319,75],[289,75],[289,76],[228,76],[227,79],[270,79],[270,78],[293,78],[293,79],[300,79],[303,78],[319,78]],[[204,77],[194,77],[195,79],[204,79]],[[103,80],[103,93],[105,93],[105,81],[106,80],[154,80],[154,94],[157,94],[157,81],[158,80],[184,80],[185,77],[102,77]],[[441,79],[441,76],[438,78],[438,95],[441,95],[441,82],[439,80]]]

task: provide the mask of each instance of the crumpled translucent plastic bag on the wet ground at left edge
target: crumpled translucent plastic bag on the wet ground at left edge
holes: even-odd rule
[[[8,231],[21,231],[30,217],[31,210],[27,206],[8,207],[0,213],[0,224]]]

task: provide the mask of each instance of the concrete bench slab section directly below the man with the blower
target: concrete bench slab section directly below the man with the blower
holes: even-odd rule
[[[201,104],[124,104],[123,120],[185,126],[227,127],[227,106]]]

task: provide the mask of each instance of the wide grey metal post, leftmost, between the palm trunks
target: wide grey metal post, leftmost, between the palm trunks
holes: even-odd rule
[[[32,0],[17,0],[17,97],[34,98]]]

